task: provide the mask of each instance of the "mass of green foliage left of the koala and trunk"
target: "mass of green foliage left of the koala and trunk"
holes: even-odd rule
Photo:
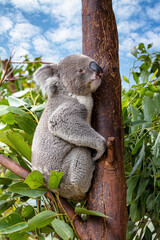
[[[25,56],[25,61],[28,61]],[[32,75],[40,67],[40,58],[35,62],[22,64],[15,69],[11,65],[16,92],[12,84],[0,69],[0,153],[11,158],[25,169],[31,171],[32,138],[45,106],[45,98],[34,87]],[[9,170],[0,167],[0,239],[57,239],[58,234],[64,240],[77,239],[72,221],[67,214],[62,214],[53,196],[48,201],[45,193],[56,189],[62,172],[51,171],[49,186],[45,185],[42,174],[35,170],[28,177],[21,179]],[[76,203],[71,203],[73,207]],[[75,208],[77,214],[107,217],[89,211],[83,202]],[[82,208],[83,207],[83,208]]]

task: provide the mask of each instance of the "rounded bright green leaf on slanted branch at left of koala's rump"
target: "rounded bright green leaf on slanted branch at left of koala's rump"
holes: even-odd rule
[[[43,175],[38,170],[34,170],[27,176],[24,183],[27,183],[31,189],[41,187],[44,185]]]

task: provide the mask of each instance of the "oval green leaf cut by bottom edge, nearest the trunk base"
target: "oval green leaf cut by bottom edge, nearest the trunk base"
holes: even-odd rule
[[[59,219],[54,219],[52,221],[52,226],[56,233],[63,239],[63,240],[72,240],[74,238],[74,233],[72,228]]]

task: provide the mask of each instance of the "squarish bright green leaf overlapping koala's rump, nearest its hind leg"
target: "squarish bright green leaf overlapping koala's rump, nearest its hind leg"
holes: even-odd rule
[[[51,171],[48,183],[51,189],[58,189],[63,174],[63,172]]]

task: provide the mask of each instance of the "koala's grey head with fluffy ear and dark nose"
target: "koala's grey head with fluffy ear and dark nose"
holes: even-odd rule
[[[49,95],[58,86],[68,93],[88,95],[101,84],[102,68],[90,57],[74,54],[62,59],[58,64],[49,64],[39,68],[34,80]]]

